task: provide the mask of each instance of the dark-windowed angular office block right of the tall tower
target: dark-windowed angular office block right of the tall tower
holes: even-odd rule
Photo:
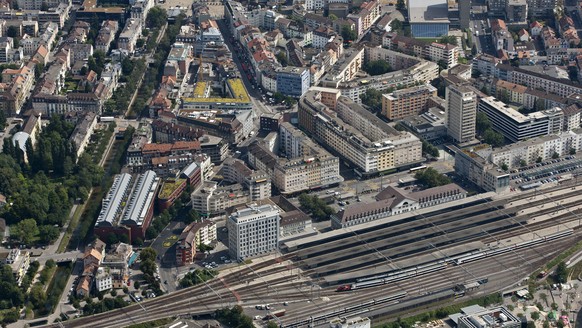
[[[493,97],[487,97],[480,99],[478,110],[487,115],[495,131],[511,142],[562,131],[564,114],[559,108],[524,115]]]

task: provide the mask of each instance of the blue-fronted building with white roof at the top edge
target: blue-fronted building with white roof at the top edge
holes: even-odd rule
[[[408,0],[408,19],[415,38],[436,38],[449,33],[447,0]]]

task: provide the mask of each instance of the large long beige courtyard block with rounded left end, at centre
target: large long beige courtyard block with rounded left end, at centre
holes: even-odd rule
[[[320,144],[340,154],[359,172],[377,174],[422,160],[421,142],[398,132],[347,97],[330,111],[309,91],[299,102],[299,126]]]

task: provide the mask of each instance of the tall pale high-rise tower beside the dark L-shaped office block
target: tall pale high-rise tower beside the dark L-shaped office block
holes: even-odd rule
[[[477,95],[465,86],[449,85],[445,94],[447,134],[457,143],[475,139]]]

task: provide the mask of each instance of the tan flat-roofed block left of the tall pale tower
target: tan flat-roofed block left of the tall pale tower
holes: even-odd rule
[[[429,108],[428,100],[436,95],[437,89],[430,84],[383,94],[382,115],[390,120],[418,115]]]

